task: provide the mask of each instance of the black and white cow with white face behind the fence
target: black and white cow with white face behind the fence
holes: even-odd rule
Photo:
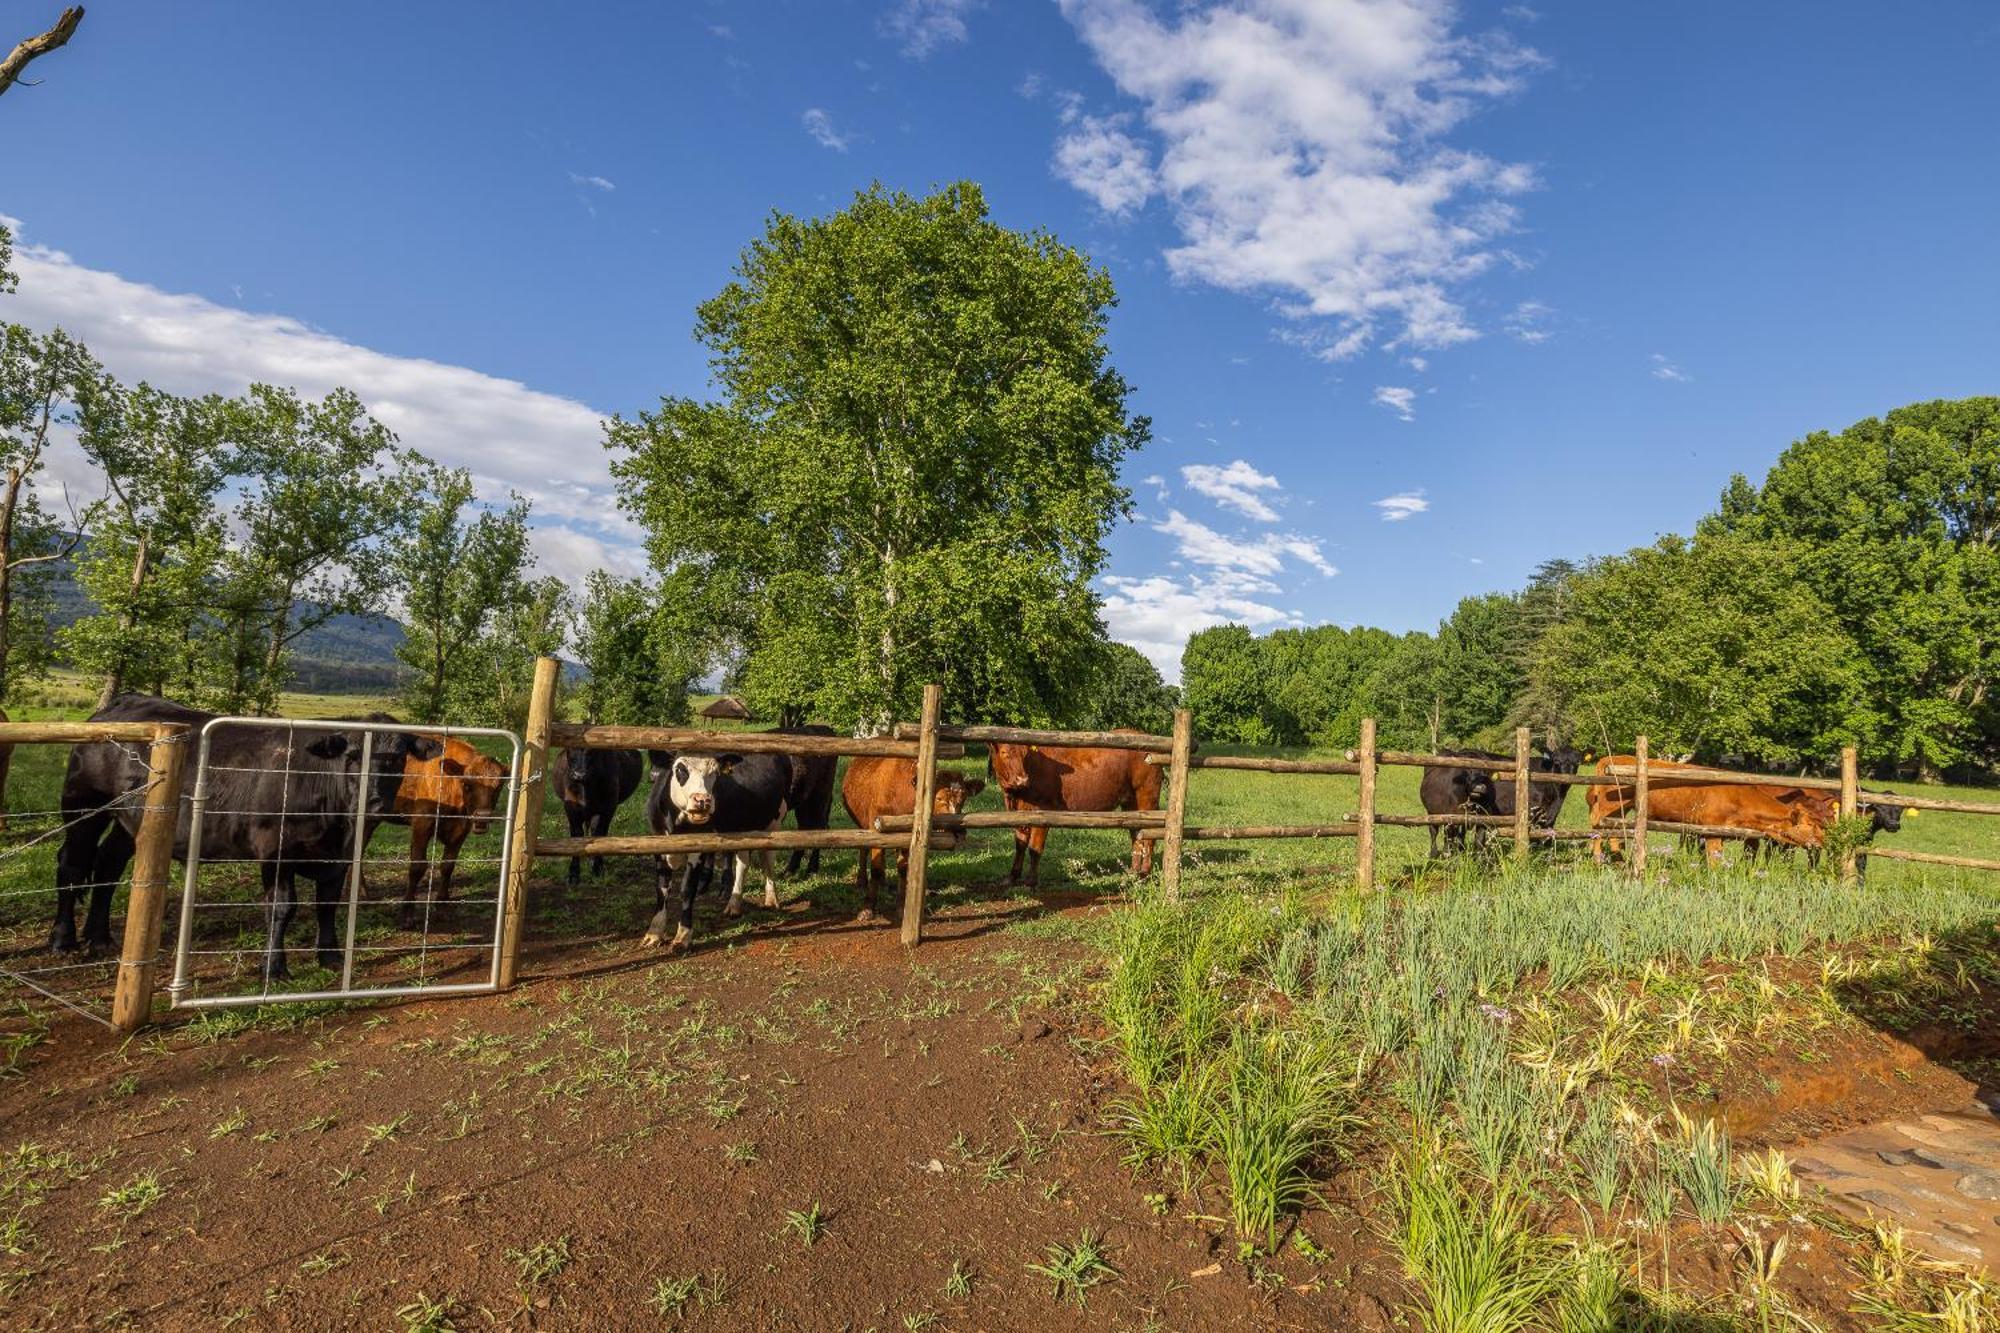
[[[646,801],[646,821],[654,833],[770,833],[784,821],[792,791],[792,761],[786,755],[664,755],[652,753],[652,795]],[[770,851],[740,851],[734,855],[736,879],[730,885],[724,917],[740,917],[744,881],[750,859],[764,869],[764,907],[778,907],[778,881]],[[666,945],[668,953],[686,949],[694,935],[694,899],[714,879],[720,857],[660,857],[658,911],[640,939],[644,949]],[[666,939],[668,907],[672,905],[670,873],[682,871],[680,925]]]

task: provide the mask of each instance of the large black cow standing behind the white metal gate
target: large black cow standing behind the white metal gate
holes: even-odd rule
[[[150,695],[120,695],[92,715],[94,723],[186,723],[198,737],[216,715]],[[188,745],[198,745],[190,737]],[[408,759],[436,759],[428,737],[378,733],[366,775],[362,843],[390,813]],[[354,807],[362,781],[362,735],[348,731],[286,731],[282,727],[218,727],[208,745],[208,803],[202,813],[202,857],[256,861],[264,895],[274,903],[266,935],[264,975],[288,977],[284,931],[298,905],[296,877],[312,881],[318,909],[320,965],[340,967],[334,913],[344,897],[354,855]],[[90,893],[84,945],[108,951],[112,891],[132,859],[144,813],[146,755],[140,747],[94,741],[70,751],[62,779],[62,819],[68,833],[56,855],[56,923],[48,945],[70,953],[76,941],[76,897]],[[174,859],[188,855],[192,779],[182,791],[174,829]]]

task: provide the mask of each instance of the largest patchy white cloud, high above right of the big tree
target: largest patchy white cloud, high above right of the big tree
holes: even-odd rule
[[[1478,336],[1454,290],[1492,264],[1534,172],[1442,140],[1518,90],[1536,52],[1454,32],[1444,0],[1204,0],[1164,14],[1062,0],[1062,12],[1158,140],[1146,156],[1180,228],[1166,252],[1176,276],[1326,320],[1314,352],[1328,360],[1378,340]],[[1136,174],[1118,180],[1122,200],[1140,188]],[[1078,188],[1098,198],[1092,184]]]

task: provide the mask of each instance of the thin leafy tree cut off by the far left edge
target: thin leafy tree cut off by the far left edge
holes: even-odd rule
[[[96,430],[112,380],[60,328],[0,324],[0,705],[46,669],[46,576],[82,540],[94,510],[58,522],[36,492],[54,432]]]

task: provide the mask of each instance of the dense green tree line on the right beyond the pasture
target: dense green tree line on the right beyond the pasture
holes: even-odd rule
[[[1204,737],[1504,745],[1822,765],[1844,745],[1936,779],[2000,767],[2000,398],[1916,402],[1732,476],[1692,536],[1542,564],[1436,632],[1202,630]]]

